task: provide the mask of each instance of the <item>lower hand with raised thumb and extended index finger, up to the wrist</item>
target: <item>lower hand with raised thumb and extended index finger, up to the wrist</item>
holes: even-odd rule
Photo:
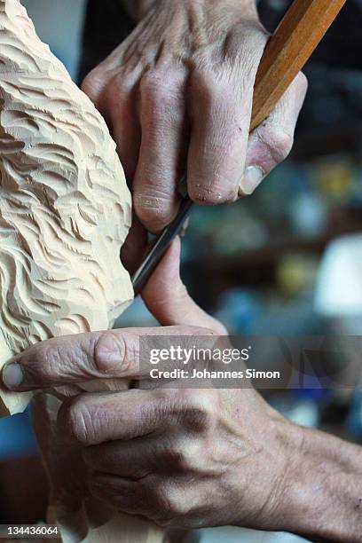
[[[4,369],[5,384],[12,382],[12,390],[48,390],[98,378],[137,381],[145,377],[138,361],[140,334],[226,334],[186,294],[178,279],[178,253],[179,240],[144,292],[155,317],[171,326],[37,343]],[[68,400],[58,417],[58,432],[43,448],[51,452],[47,464],[57,496],[66,495],[59,488],[62,467],[69,465],[64,452],[71,452],[76,468],[67,483],[70,514],[88,492],[83,488],[87,482],[92,496],[103,503],[161,524],[268,526],[279,514],[277,482],[287,458],[284,434],[291,434],[289,423],[255,390],[161,387]]]

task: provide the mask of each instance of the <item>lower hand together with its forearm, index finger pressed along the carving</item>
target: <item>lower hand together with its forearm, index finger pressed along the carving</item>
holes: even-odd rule
[[[138,334],[224,335],[185,293],[178,252],[179,241],[144,293],[153,314],[174,326],[39,343],[10,364],[20,369],[10,370],[10,388],[47,390],[101,376],[137,380]],[[292,424],[253,389],[83,394],[63,405],[58,429],[58,405],[41,405],[49,395],[38,398],[35,423],[52,503],[80,539],[84,515],[98,525],[118,508],[163,525],[235,523],[360,541],[360,447]]]

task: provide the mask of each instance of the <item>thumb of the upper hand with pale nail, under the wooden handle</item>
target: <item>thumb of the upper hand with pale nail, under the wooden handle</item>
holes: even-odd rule
[[[250,135],[240,196],[253,193],[271,169],[287,158],[306,91],[307,79],[300,73],[268,119]]]

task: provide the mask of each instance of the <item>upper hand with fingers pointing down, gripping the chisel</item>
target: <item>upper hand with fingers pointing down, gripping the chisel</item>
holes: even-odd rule
[[[184,173],[199,203],[252,193],[289,153],[307,83],[298,75],[249,138],[268,38],[255,1],[141,4],[138,27],[86,77],[83,90],[112,126],[138,218],[158,231],[177,213]]]

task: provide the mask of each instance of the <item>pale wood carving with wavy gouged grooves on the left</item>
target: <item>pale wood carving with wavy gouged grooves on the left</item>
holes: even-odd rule
[[[0,367],[30,343],[112,326],[133,296],[130,220],[106,122],[19,0],[1,0]],[[28,400],[0,391],[4,413]]]

